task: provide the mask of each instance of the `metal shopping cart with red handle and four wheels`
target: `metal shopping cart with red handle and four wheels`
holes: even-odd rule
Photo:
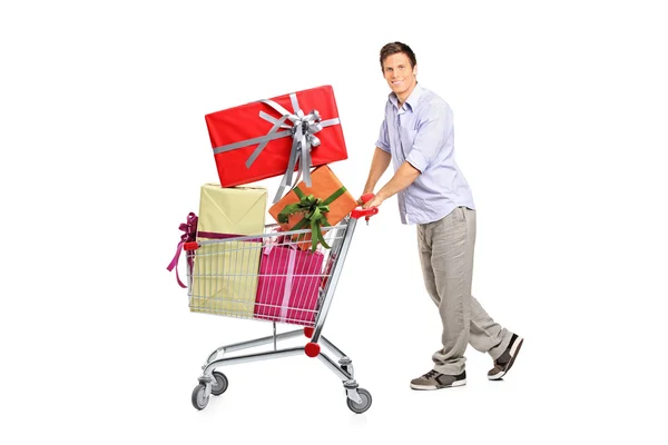
[[[372,195],[365,195],[366,201]],[[353,362],[322,335],[341,270],[358,218],[377,214],[377,208],[356,208],[340,224],[323,227],[324,245],[313,250],[312,230],[278,231],[268,225],[263,234],[227,239],[186,243],[188,297],[191,312],[248,318],[273,324],[271,336],[222,346],[202,367],[199,384],[193,390],[193,405],[204,409],[210,395],[227,389],[226,365],[305,354],[320,358],[343,382],[347,406],[364,413],[371,394],[358,387]],[[321,243],[322,244],[322,243]],[[298,325],[299,329],[276,334],[276,324]],[[305,335],[305,346],[277,348],[278,340]],[[228,353],[273,343],[273,350],[228,356]],[[333,353],[327,356],[321,346]]]

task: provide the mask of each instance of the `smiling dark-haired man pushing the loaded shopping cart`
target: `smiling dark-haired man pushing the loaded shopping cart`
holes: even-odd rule
[[[512,367],[523,339],[492,320],[471,295],[475,207],[454,160],[452,110],[418,85],[418,61],[409,46],[385,44],[380,61],[392,92],[364,194],[373,192],[390,161],[394,176],[364,208],[397,195],[402,222],[418,225],[424,284],[443,323],[443,347],[432,356],[433,369],[411,380],[411,387],[465,385],[469,343],[490,354],[494,365],[488,378],[500,379]]]

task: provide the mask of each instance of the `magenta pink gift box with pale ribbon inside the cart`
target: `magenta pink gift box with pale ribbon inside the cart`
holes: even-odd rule
[[[324,255],[295,245],[264,248],[255,318],[312,326],[321,288]]]

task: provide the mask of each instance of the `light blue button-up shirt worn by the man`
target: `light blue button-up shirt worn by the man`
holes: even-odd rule
[[[392,155],[394,171],[404,160],[421,171],[397,194],[403,224],[438,221],[459,206],[475,208],[454,160],[452,109],[433,91],[416,85],[401,108],[390,93],[376,147]]]

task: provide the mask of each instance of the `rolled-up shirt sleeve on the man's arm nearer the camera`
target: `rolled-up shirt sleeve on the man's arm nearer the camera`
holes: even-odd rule
[[[452,150],[452,147],[444,144],[452,132],[452,110],[446,103],[439,103],[428,110],[424,119],[418,125],[415,140],[406,161],[418,170],[424,171],[439,155],[439,150]],[[440,155],[448,156],[448,154]]]

